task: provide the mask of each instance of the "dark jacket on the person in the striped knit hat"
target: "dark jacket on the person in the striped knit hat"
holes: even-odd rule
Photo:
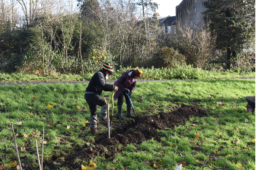
[[[113,84],[106,83],[106,71],[101,69],[96,72],[85,90],[85,93],[97,93],[101,95],[102,90],[104,91],[113,91],[115,90],[115,86]]]

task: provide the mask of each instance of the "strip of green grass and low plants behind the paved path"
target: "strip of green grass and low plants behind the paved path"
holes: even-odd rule
[[[128,69],[137,68],[117,68],[114,69],[113,76],[110,79],[117,80],[123,72]],[[175,66],[172,69],[165,68],[141,68],[143,75],[141,80],[174,80],[174,79],[214,79],[214,78],[238,78],[255,76],[255,72],[234,72],[232,70],[215,70],[207,71],[191,66]],[[93,73],[86,73],[86,75],[74,74],[59,74],[54,73],[49,76],[27,74],[27,73],[3,73],[0,72],[0,81],[28,81],[28,80],[48,80],[48,79],[69,79],[71,81],[86,81],[90,80]]]

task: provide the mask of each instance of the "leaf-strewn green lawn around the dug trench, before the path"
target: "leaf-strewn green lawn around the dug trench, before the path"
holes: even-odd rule
[[[35,137],[41,141],[42,136],[32,134],[42,133],[43,126],[47,142],[44,145],[44,161],[49,161],[55,155],[60,166],[63,156],[71,153],[74,145],[92,143],[94,136],[81,130],[84,127],[89,130],[89,126],[84,123],[90,117],[84,99],[87,85],[41,83],[0,86],[0,165],[17,160],[11,123],[16,123],[14,130],[19,149],[25,148],[19,151],[21,161],[28,161],[35,166]],[[110,92],[102,93],[105,94]],[[211,168],[240,170],[242,166],[242,170],[255,170],[255,114],[247,112],[244,106],[247,101],[243,98],[254,95],[255,79],[138,82],[132,100],[140,117],[171,112],[180,104],[189,106],[191,103],[209,109],[213,115],[191,117],[184,125],[160,130],[159,133],[164,135],[161,142],[151,139],[140,145],[130,143],[118,146],[123,151],[115,155],[115,162],[106,161],[100,156],[93,157],[97,163],[96,169],[104,170],[110,165],[116,170],[174,170],[183,162],[184,169],[202,170],[207,162]],[[47,109],[48,104],[53,108]],[[22,125],[18,125],[18,122]],[[67,126],[70,128],[67,129]],[[107,131],[102,125],[99,125],[99,129]],[[71,136],[65,136],[63,131]],[[30,136],[25,137],[24,134]],[[198,139],[194,138],[196,134],[199,134]],[[71,140],[63,142],[67,138]],[[58,144],[61,142],[63,144]],[[193,150],[198,146],[196,143],[201,143],[202,151]],[[38,145],[41,147],[41,143]],[[145,161],[155,161],[159,168]],[[81,157],[74,162],[88,164]]]

